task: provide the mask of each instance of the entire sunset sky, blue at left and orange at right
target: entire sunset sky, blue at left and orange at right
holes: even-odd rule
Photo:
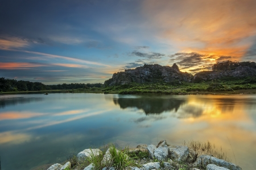
[[[104,83],[144,64],[256,61],[255,0],[0,0],[0,77]]]

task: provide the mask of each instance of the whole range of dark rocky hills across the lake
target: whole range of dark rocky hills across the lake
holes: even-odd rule
[[[174,64],[162,66],[159,64],[144,64],[143,67],[126,69],[124,72],[114,73],[112,78],[106,80],[105,86],[117,86],[130,84],[131,82],[166,82],[170,84],[180,84],[185,82],[211,81],[225,77],[254,77],[256,76],[256,63],[250,61],[233,62],[224,61],[212,66],[212,71],[203,71],[194,76],[187,72],[181,72],[179,67]]]

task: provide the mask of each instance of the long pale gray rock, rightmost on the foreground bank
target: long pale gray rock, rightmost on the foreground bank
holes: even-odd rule
[[[207,166],[208,164],[215,164],[220,167],[228,168],[230,170],[242,170],[239,166],[229,163],[228,161],[218,159],[209,155],[201,155],[197,157],[195,164]]]

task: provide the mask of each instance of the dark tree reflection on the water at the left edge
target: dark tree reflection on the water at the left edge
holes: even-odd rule
[[[0,108],[5,108],[9,105],[17,105],[23,103],[42,101],[43,98],[25,98],[25,97],[11,97],[11,98],[0,98]]]

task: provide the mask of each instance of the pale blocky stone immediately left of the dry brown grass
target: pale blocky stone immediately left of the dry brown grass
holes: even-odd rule
[[[169,154],[173,160],[187,161],[189,150],[187,146],[168,146]]]

